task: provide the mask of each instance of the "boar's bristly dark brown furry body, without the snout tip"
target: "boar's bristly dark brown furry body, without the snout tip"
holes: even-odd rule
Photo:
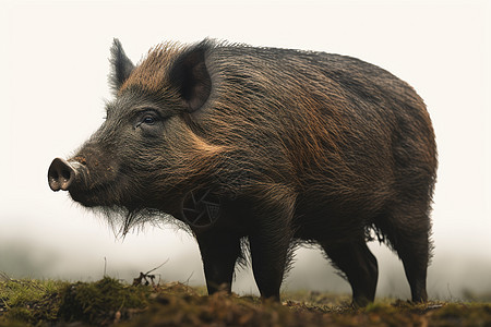
[[[250,254],[261,294],[279,299],[307,242],[364,305],[376,238],[403,261],[411,299],[428,299],[436,145],[408,84],[350,57],[213,40],[159,45],[136,66],[115,40],[111,64],[116,98],[73,158],[87,172],[73,199],[104,207],[125,234],[170,216],[184,223],[187,195],[212,192],[218,220],[189,226],[211,293],[229,291]]]

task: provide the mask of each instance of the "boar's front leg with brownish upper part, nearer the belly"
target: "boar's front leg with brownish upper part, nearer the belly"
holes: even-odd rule
[[[249,234],[252,270],[263,299],[279,301],[279,288],[291,258],[295,196],[280,187],[252,207]]]

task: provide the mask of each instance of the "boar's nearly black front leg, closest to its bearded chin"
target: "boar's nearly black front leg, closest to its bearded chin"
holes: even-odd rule
[[[196,233],[208,294],[231,292],[237,258],[241,255],[240,237],[229,231]]]

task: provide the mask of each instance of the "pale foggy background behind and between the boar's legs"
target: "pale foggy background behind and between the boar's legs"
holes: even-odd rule
[[[204,37],[358,57],[411,84],[439,145],[428,291],[491,292],[490,1],[0,0],[0,271],[11,277],[130,280],[166,259],[165,281],[203,284],[194,240],[171,226],[120,240],[52,193],[47,170],[103,122],[109,47],[137,62],[164,40]],[[378,295],[409,296],[402,263],[371,243]],[[320,251],[301,249],[284,290],[349,292]],[[256,292],[250,269],[233,290]]]

